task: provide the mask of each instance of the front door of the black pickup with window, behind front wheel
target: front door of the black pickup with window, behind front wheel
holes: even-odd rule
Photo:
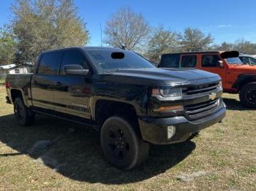
[[[64,66],[78,64],[89,69],[86,56],[80,50],[65,50],[62,57],[59,77],[56,79],[54,97],[56,111],[78,117],[90,118],[89,97],[91,78],[64,74]],[[90,71],[92,74],[92,71]]]

